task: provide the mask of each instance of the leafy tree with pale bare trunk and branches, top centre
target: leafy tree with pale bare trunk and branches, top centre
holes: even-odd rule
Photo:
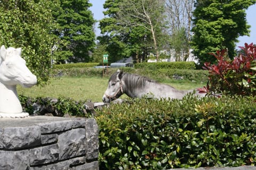
[[[158,61],[159,50],[157,36],[161,35],[164,19],[164,1],[162,0],[123,0],[119,4],[118,24],[124,27],[143,27],[150,31],[153,47]]]

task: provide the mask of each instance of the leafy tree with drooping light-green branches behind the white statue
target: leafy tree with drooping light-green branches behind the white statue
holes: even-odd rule
[[[0,1],[0,45],[22,47],[22,57],[39,84],[49,80],[56,1]]]

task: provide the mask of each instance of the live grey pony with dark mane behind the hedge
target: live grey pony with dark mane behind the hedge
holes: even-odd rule
[[[112,74],[108,81],[108,88],[102,97],[102,101],[110,101],[126,94],[132,98],[151,97],[151,98],[170,98],[182,99],[188,93],[193,93],[199,97],[204,97],[206,93],[200,93],[199,90],[177,90],[169,85],[158,83],[146,77],[137,74],[117,71]]]

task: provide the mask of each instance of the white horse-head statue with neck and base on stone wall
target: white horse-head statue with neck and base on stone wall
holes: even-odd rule
[[[0,118],[22,118],[29,114],[22,111],[17,84],[32,87],[37,78],[21,58],[21,48],[0,48]]]

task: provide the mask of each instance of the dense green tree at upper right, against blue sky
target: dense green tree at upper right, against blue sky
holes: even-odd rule
[[[230,58],[235,56],[235,43],[239,36],[249,35],[245,10],[255,0],[198,0],[194,11],[193,47],[201,65],[214,62],[215,53],[227,49]]]

